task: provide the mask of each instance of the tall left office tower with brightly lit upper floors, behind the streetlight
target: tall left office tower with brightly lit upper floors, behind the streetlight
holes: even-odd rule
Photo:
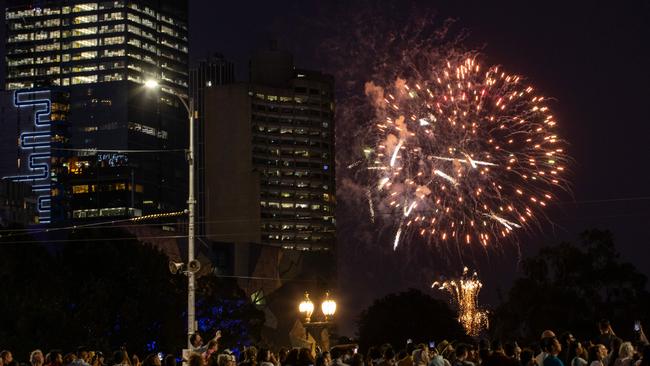
[[[67,219],[185,206],[187,4],[7,1],[6,88],[69,94]]]

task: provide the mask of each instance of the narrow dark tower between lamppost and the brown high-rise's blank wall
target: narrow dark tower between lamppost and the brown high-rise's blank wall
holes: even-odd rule
[[[190,69],[190,96],[194,101],[194,108],[197,111],[195,123],[197,127],[196,144],[196,217],[197,231],[205,233],[205,134],[204,114],[205,106],[203,101],[205,90],[217,85],[230,84],[235,82],[235,64],[220,54],[198,60],[196,66]]]

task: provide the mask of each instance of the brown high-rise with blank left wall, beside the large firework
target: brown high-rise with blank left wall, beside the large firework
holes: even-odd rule
[[[291,253],[334,248],[333,89],[333,77],[295,69],[273,47],[252,58],[249,83],[206,89],[206,235],[235,244],[236,273],[277,276]]]

